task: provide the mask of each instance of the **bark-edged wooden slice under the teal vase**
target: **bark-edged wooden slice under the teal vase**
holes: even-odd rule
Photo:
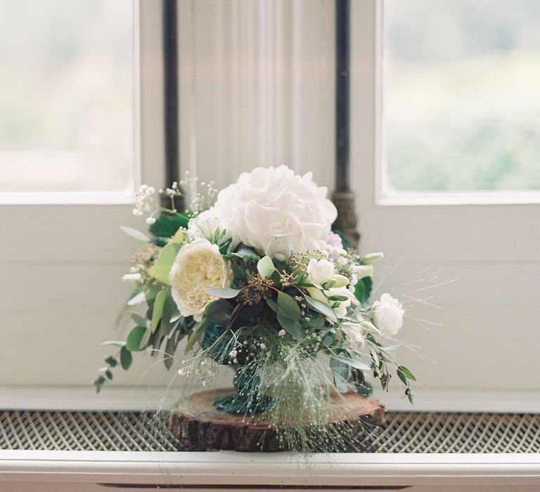
[[[214,408],[213,402],[217,396],[232,391],[202,391],[184,399],[169,415],[169,432],[194,451],[283,451],[276,432],[262,415],[244,417]],[[366,399],[354,391],[345,394],[333,391],[330,396],[335,403],[328,403],[328,425],[347,421],[352,426],[352,434],[357,434],[365,425],[381,425],[385,420],[385,406],[378,400]],[[339,405],[338,414],[333,410],[336,403]]]

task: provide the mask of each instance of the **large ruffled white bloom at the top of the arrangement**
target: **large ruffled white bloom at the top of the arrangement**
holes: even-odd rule
[[[219,224],[233,237],[276,259],[320,249],[338,216],[326,188],[311,173],[295,175],[286,166],[257,167],[217,195]]]

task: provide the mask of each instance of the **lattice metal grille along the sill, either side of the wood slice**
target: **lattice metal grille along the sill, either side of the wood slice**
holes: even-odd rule
[[[361,441],[371,453],[538,453],[540,415],[389,413]],[[0,449],[186,451],[152,414],[37,411],[0,413]]]

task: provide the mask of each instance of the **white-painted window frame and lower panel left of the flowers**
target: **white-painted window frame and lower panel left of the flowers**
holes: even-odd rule
[[[159,188],[165,184],[162,3],[134,0],[134,14],[135,181]],[[115,306],[120,309],[129,294],[120,276],[137,247],[119,226],[146,228],[131,214],[133,201],[133,193],[49,193],[20,194],[0,203],[0,278],[5,279],[0,313],[7,336],[0,349],[0,387],[6,398],[23,390],[32,394],[34,387],[79,385],[95,376],[103,363],[100,343],[114,336]],[[87,274],[106,285],[85,285]],[[32,307],[24,309],[23,303]],[[94,306],[94,328],[84,307],[89,305]],[[82,334],[86,341],[77,347]],[[68,353],[73,346],[87,354],[84,361],[76,356],[85,366],[79,367],[78,377],[73,362],[53,363],[63,358],[58,348],[63,344]],[[23,350],[32,354],[31,364],[19,362],[17,354]],[[90,384],[84,391],[89,399],[96,398]],[[55,395],[51,391],[50,399]]]

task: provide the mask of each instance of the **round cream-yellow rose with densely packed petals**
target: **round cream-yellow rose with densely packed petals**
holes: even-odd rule
[[[230,287],[232,275],[229,261],[207,239],[196,239],[181,247],[169,273],[172,298],[181,315],[199,321],[206,305],[214,299],[205,289]]]

